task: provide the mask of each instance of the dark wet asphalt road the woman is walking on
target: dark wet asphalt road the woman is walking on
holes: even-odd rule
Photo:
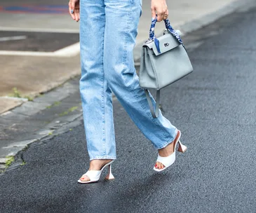
[[[115,100],[114,181],[76,182],[88,169],[79,125],[0,176],[0,212],[256,212],[256,11],[234,17],[190,52],[194,73],[163,90],[188,146],[170,169],[154,172],[156,151]]]

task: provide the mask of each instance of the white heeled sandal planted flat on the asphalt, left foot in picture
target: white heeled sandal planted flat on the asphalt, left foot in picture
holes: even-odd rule
[[[86,174],[83,174],[83,176],[87,176],[88,178],[90,178],[89,181],[81,181],[81,178],[78,180],[78,182],[80,184],[89,184],[89,183],[93,183],[93,182],[97,182],[100,179],[100,175],[102,174],[102,171],[105,169],[105,167],[109,166],[109,172],[107,174],[107,176],[105,177],[105,179],[107,180],[112,180],[114,179],[114,175],[112,174],[111,171],[111,166],[112,163],[114,162],[114,160],[110,161],[109,163],[107,163],[106,165],[104,165],[101,170],[89,170],[86,172]]]

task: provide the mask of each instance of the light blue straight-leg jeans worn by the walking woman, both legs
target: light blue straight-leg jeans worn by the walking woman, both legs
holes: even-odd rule
[[[112,92],[156,149],[177,135],[161,111],[151,116],[139,85],[133,48],[141,11],[140,0],[80,0],[80,92],[90,160],[116,159]]]

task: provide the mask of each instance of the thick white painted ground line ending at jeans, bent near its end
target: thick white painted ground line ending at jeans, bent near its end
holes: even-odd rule
[[[0,55],[20,55],[20,56],[46,56],[46,57],[73,57],[80,53],[80,43],[74,43],[55,52],[32,52],[32,51],[8,51],[0,50]]]

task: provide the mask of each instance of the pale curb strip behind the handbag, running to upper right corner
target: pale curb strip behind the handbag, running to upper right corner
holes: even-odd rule
[[[227,6],[220,8],[219,10],[213,13],[203,15],[201,18],[197,18],[197,19],[191,20],[190,22],[177,26],[176,29],[180,30],[180,32],[182,33],[182,36],[185,36],[189,34],[189,32],[193,32],[193,31],[196,31],[197,29],[205,27],[206,25],[210,25],[211,23],[224,17],[225,15],[234,13],[239,9],[243,10],[246,8],[250,8],[250,6],[252,6],[252,4],[255,4],[255,3],[256,3],[256,0],[237,0],[232,2],[231,4],[228,4]],[[140,65],[140,54],[141,54],[143,43],[144,42],[138,43],[133,50],[134,62],[136,66]]]

